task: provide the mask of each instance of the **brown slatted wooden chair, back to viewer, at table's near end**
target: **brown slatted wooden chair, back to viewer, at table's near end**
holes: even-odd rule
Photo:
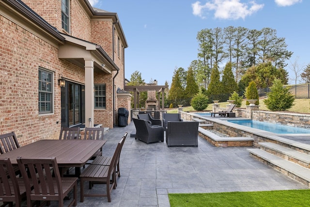
[[[27,206],[31,201],[58,201],[63,207],[63,199],[73,190],[69,206],[77,206],[77,177],[61,177],[56,158],[23,159],[17,158],[18,167],[26,186]],[[27,170],[26,170],[27,169]],[[33,190],[31,190],[31,183]],[[41,205],[43,206],[43,204]]]

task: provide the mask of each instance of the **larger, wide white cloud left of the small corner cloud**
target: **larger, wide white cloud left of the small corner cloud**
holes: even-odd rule
[[[241,3],[240,0],[211,0],[204,5],[200,1],[192,4],[193,15],[205,18],[204,11],[214,10],[214,17],[219,19],[239,19],[250,16],[262,9],[264,4],[257,4],[254,1]]]

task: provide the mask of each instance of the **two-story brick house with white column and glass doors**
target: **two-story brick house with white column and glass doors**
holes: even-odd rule
[[[131,95],[117,93],[128,46],[116,13],[88,0],[1,0],[0,29],[0,134],[58,139],[62,126],[114,127],[117,109],[130,110]]]

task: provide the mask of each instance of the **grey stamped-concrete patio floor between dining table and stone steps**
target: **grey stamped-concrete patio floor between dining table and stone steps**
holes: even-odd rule
[[[130,137],[134,123],[114,127],[104,135],[103,156],[112,156],[125,131],[121,177],[107,197],[85,197],[78,207],[170,207],[168,193],[272,191],[308,189],[249,156],[249,147],[218,148],[201,137],[198,147],[168,147],[164,142],[146,144]],[[88,184],[85,183],[85,191]],[[106,191],[95,185],[92,191]],[[65,205],[68,201],[65,201]],[[52,207],[57,206],[52,203]]]

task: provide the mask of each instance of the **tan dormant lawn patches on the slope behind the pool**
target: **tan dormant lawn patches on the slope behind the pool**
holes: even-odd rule
[[[220,108],[226,108],[226,105],[228,102],[220,102],[218,103]],[[240,108],[246,108],[246,100],[242,101],[242,105]],[[270,111],[267,109],[266,105],[263,102],[263,99],[260,99],[260,110],[263,111]],[[177,113],[178,109],[167,109],[168,113]],[[193,107],[183,107],[183,111],[195,111]],[[209,106],[204,111],[212,111],[212,104],[209,104]],[[296,98],[294,100],[294,106],[287,110],[289,112],[299,112],[299,113],[310,113],[310,99],[309,98]],[[285,111],[283,111],[285,112]]]

